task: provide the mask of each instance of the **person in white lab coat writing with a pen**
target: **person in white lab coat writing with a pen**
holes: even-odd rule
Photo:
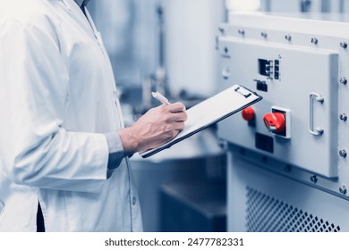
[[[123,128],[87,2],[0,0],[0,231],[141,231],[127,156],[183,129],[181,103]]]

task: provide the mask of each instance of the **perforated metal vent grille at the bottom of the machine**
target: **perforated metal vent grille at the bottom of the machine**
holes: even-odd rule
[[[246,229],[250,232],[339,232],[340,227],[275,197],[246,187]]]

